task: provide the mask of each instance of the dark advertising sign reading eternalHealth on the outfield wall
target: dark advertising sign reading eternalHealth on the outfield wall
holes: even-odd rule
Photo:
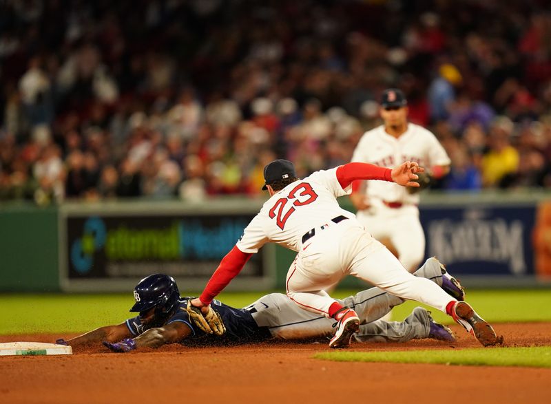
[[[152,273],[202,288],[253,215],[71,214],[65,217],[65,290],[120,290]],[[262,250],[269,249],[263,248]],[[253,255],[233,288],[271,286],[267,253]],[[268,253],[269,254],[269,253]],[[101,282],[101,283],[100,283]],[[184,288],[184,286],[180,286]]]

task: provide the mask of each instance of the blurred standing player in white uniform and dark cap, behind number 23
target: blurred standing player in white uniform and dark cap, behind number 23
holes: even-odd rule
[[[380,116],[384,124],[367,131],[358,142],[353,162],[393,167],[404,161],[431,167],[426,175],[441,178],[449,171],[450,158],[437,138],[427,129],[408,123],[404,93],[386,89],[382,94]],[[430,178],[422,176],[422,184]],[[353,184],[351,201],[357,220],[393,251],[402,265],[413,272],[425,254],[425,235],[419,222],[419,188],[404,188],[392,182]],[[390,242],[390,245],[388,245]]]

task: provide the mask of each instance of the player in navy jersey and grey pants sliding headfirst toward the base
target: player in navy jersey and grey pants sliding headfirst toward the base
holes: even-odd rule
[[[451,277],[435,258],[429,258],[414,274],[435,282],[446,293],[459,299],[464,295],[461,285]],[[167,343],[251,343],[267,339],[320,339],[331,337],[334,320],[302,310],[281,293],[262,296],[246,308],[233,308],[218,300],[212,302],[218,320],[214,331],[194,310],[187,311],[191,297],[180,297],[176,281],[164,274],[149,275],[134,288],[136,303],[131,312],[139,315],[121,324],[105,326],[57,343],[73,348],[90,348],[104,343],[115,352],[136,348],[158,348]],[[415,308],[404,321],[375,321],[404,302],[379,288],[364,290],[340,300],[358,313],[362,325],[355,339],[366,341],[406,342],[432,338],[454,341],[450,330],[433,321],[424,308]],[[216,331],[216,332],[215,332]]]

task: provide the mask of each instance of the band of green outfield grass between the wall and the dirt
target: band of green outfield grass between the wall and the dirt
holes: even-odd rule
[[[335,297],[353,291],[337,290]],[[220,300],[233,307],[251,304],[264,293],[223,293]],[[491,322],[551,321],[551,293],[548,290],[472,290],[467,300]],[[0,334],[32,332],[85,332],[131,317],[132,293],[121,295],[0,295]],[[393,319],[404,319],[416,302],[393,310]],[[449,317],[432,310],[437,321]]]

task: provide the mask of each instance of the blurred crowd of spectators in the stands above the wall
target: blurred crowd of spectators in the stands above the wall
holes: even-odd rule
[[[0,200],[260,193],[349,162],[382,89],[445,190],[551,187],[545,0],[0,1]]]

